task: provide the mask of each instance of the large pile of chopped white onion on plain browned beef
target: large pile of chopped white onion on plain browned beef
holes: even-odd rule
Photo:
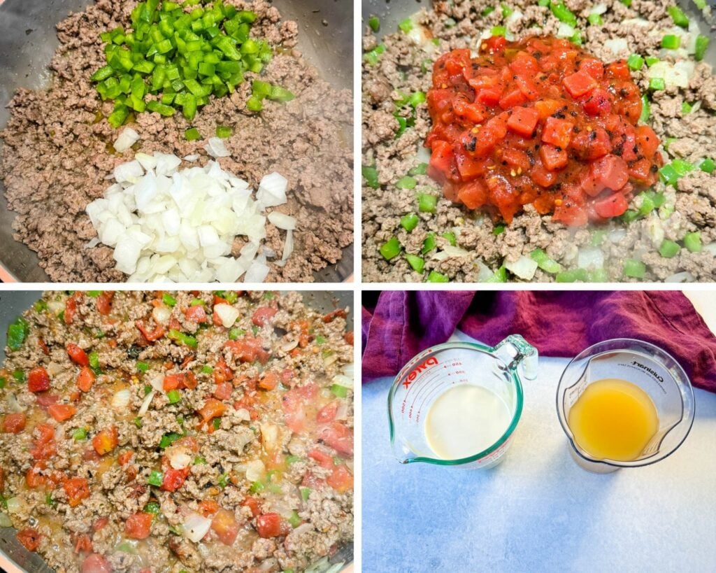
[[[211,140],[212,150],[221,153],[217,145],[224,144],[218,141]],[[261,244],[267,222],[262,213],[286,203],[286,178],[266,175],[254,199],[248,183],[216,161],[203,168],[180,165],[180,158],[167,153],[137,153],[118,165],[117,182],[87,206],[99,237],[95,244],[114,249],[115,268],[127,281],[236,282],[247,271],[246,281],[266,279],[266,256],[277,255]],[[287,229],[284,256],[276,262],[283,265],[293,251],[296,219],[278,212],[269,218]],[[240,259],[231,256],[237,236],[248,239]]]

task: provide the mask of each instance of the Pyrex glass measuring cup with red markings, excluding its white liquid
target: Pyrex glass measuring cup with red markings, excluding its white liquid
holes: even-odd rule
[[[537,375],[537,349],[518,334],[495,347],[472,342],[446,342],[420,352],[395,377],[388,393],[390,443],[400,463],[427,462],[442,466],[489,468],[499,463],[511,444],[522,413],[522,375]],[[442,459],[425,435],[427,412],[437,398],[455,385],[483,387],[503,400],[511,423],[489,448],[466,458]]]

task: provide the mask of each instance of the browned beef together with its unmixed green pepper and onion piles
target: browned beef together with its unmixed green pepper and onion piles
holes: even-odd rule
[[[15,238],[50,279],[311,281],[341,259],[352,94],[296,21],[266,0],[97,0],[57,32],[49,88],[18,90],[0,131]]]

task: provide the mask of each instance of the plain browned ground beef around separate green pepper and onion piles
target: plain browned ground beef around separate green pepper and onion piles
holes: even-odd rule
[[[298,24],[281,22],[266,0],[233,0],[258,19],[256,37],[269,40],[276,55],[261,79],[296,95],[286,105],[265,103],[256,115],[246,110],[254,74],[231,97],[213,99],[193,122],[180,113],[160,117],[145,112],[132,127],[140,134],[137,149],[178,157],[200,155],[205,139],[188,142],[184,133],[197,127],[205,138],[217,125],[233,127],[226,140],[231,156],[219,163],[254,189],[263,175],[276,170],[289,180],[289,202],[279,211],[297,218],[294,254],[286,266],[270,264],[267,281],[312,281],[314,271],[334,264],[353,241],[352,94],[338,91],[319,77],[295,48]],[[84,208],[101,197],[105,177],[115,165],[132,160],[135,150],[117,153],[111,143],[117,130],[102,119],[112,102],[102,104],[89,77],[105,65],[100,32],[128,26],[136,1],[99,0],[57,25],[60,45],[52,59],[48,90],[18,90],[9,104],[11,118],[0,132],[0,180],[6,188],[17,241],[37,251],[40,266],[53,281],[123,281],[112,249],[87,248],[97,233]],[[284,249],[276,229],[268,246]],[[282,233],[285,237],[286,233]],[[238,251],[238,249],[237,249]]]

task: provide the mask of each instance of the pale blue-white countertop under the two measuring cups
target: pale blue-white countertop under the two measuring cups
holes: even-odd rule
[[[388,434],[392,379],[364,385],[364,571],[716,571],[716,394],[695,390],[693,428],[672,456],[589,473],[557,420],[567,362],[541,358],[523,382],[513,446],[492,470],[401,465]]]

